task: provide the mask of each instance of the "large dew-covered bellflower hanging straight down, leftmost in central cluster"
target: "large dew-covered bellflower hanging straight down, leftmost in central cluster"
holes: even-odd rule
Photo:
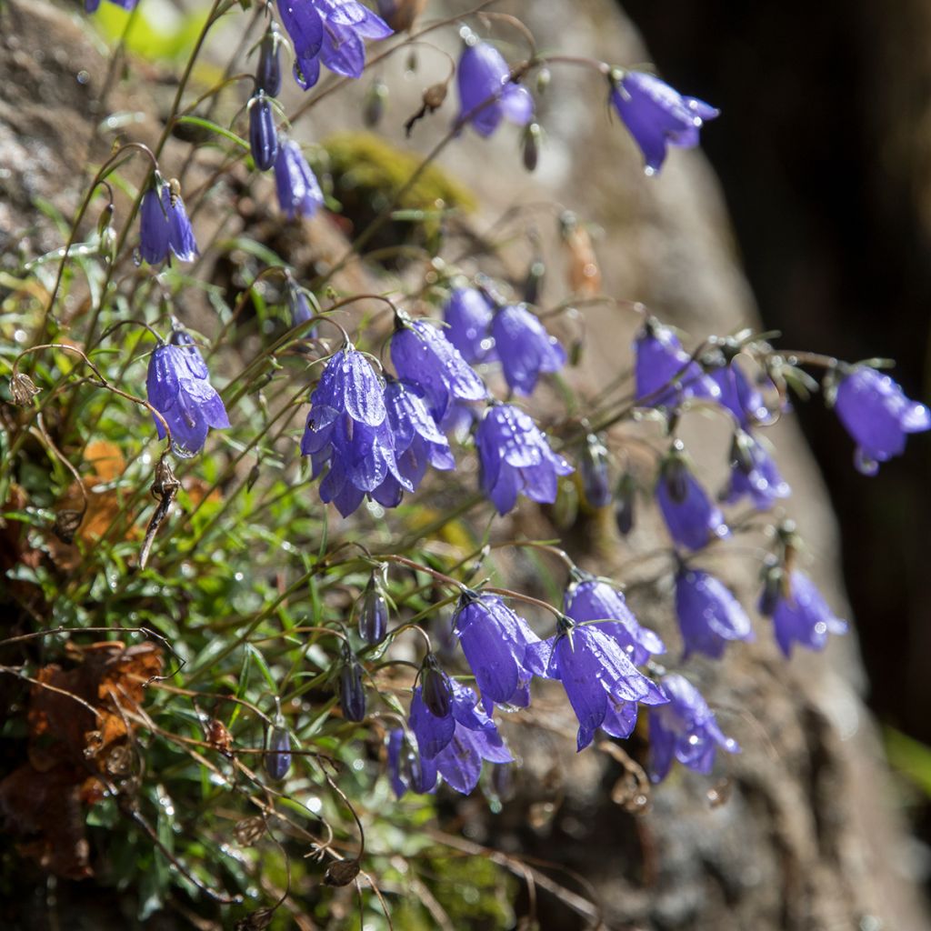
[[[334,353],[310,396],[301,453],[313,477],[330,466],[320,498],[348,517],[390,475],[408,492],[411,482],[395,462],[385,392],[365,356],[352,345]]]

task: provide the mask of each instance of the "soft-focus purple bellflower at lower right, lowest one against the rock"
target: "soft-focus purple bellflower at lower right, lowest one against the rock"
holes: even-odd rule
[[[690,681],[673,674],[661,684],[668,704],[650,711],[650,778],[654,782],[666,778],[673,760],[707,776],[719,747],[728,753],[740,752],[737,742],[724,736],[714,712]]]

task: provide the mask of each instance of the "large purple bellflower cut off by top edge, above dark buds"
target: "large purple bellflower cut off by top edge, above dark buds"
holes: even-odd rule
[[[358,77],[365,68],[362,40],[392,34],[358,0],[277,0],[277,6],[294,46],[294,78],[304,90],[317,84],[321,60],[336,74]]]

